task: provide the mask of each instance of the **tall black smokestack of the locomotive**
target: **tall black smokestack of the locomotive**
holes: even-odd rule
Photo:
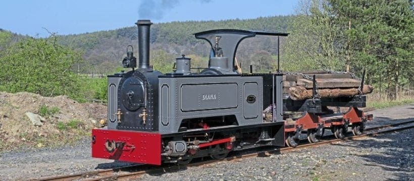
[[[149,20],[138,20],[138,69],[150,69],[149,67]]]

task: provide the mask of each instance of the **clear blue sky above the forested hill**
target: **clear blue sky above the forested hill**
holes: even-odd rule
[[[251,19],[291,15],[298,0],[72,0],[5,1],[0,28],[45,37],[133,26],[137,19],[154,23],[188,20]]]

